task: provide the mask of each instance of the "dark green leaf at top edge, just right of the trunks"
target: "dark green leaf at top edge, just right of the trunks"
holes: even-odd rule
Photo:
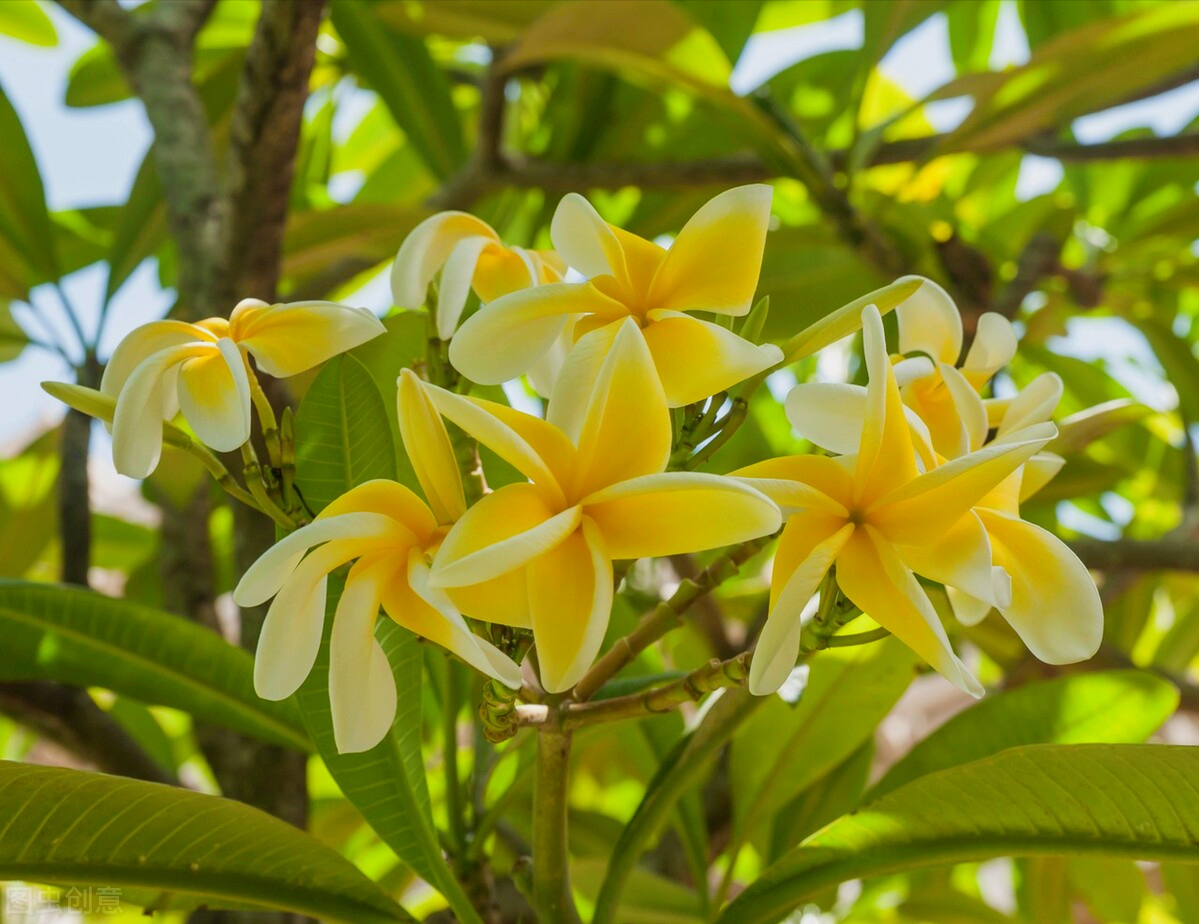
[[[429,170],[440,180],[453,176],[466,156],[462,125],[424,42],[396,32],[357,0],[335,0],[330,13],[355,72],[379,93]]]

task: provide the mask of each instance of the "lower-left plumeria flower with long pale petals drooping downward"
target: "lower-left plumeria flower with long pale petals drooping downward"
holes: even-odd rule
[[[408,433],[411,439],[414,431]],[[424,447],[438,455],[435,445]],[[457,495],[460,501],[460,482]],[[520,686],[520,668],[471,633],[445,592],[429,586],[428,558],[446,533],[444,518],[453,515],[447,509],[465,508],[454,506],[453,496],[430,501],[432,509],[396,482],[360,484],[267,549],[234,591],[241,606],[275,597],[258,641],[254,689],[264,699],[282,700],[300,688],[317,659],[329,574],[355,562],[329,642],[329,701],[333,738],[343,754],[373,748],[396,718],[396,682],[374,636],[380,605],[405,629],[507,687]]]

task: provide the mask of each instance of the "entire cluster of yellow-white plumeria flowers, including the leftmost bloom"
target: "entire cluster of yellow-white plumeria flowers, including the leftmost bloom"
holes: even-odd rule
[[[912,280],[897,307],[897,356],[887,354],[879,309],[855,312],[866,386],[807,384],[788,397],[795,431],[830,454],[727,475],[687,470],[680,433],[695,439],[687,449],[727,437],[722,427],[731,433],[740,419],[718,418],[729,389],[759,384],[784,361],[731,324],[751,308],[770,204],[766,186],[722,193],[669,248],[608,224],[573,194],[554,215],[554,250],[506,247],[462,212],[417,227],[394,264],[394,300],[402,309],[430,306],[432,342],[448,342],[463,376],[399,370],[399,431],[423,499],[394,482],[360,484],[294,524],[246,572],[240,604],[273,598],[255,665],[260,695],[285,697],[311,671],[329,576],[347,564],[330,699],[338,748],[362,750],[396,714],[374,635],[380,609],[517,689],[517,650],[478,630],[513,627],[531,636],[540,684],[565,693],[603,646],[614,562],[717,549],[781,527],[749,669],[754,693],[782,684],[805,614],[818,594],[833,594],[980,694],[918,578],[947,588],[963,623],[994,608],[1042,659],[1089,657],[1102,623],[1095,586],[1059,539],[1019,515],[1020,500],[1061,465],[1046,451],[1061,384],[1046,375],[1014,399],[984,398],[1016,350],[1011,325],[984,315],[959,367],[960,316],[928,280]],[[471,291],[480,307],[463,320]],[[247,356],[271,375],[291,375],[381,330],[360,309],[243,302],[228,321],[135,331],[102,387],[115,401],[118,467],[151,471],[161,422],[180,410],[207,446],[245,446],[260,392]],[[519,376],[548,398],[544,417],[469,393],[471,384]],[[472,490],[456,452],[463,440],[523,481]]]

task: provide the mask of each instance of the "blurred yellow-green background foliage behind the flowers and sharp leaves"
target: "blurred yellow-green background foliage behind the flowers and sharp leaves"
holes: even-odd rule
[[[167,0],[134,12],[155,2]],[[193,79],[218,164],[228,156],[259,12],[254,0],[219,0],[195,38]],[[5,0],[0,34],[53,46],[56,17],[34,0]],[[846,26],[849,43],[821,44],[819,36]],[[938,36],[952,78],[914,96],[886,65],[917,32]],[[996,36],[1026,46],[1026,55],[1005,59]],[[669,240],[719,189],[771,182],[777,223],[759,288],[770,296],[765,338],[785,338],[870,289],[920,273],[954,296],[968,337],[983,312],[1018,325],[1020,354],[996,393],[1046,370],[1065,382],[1062,433],[1050,448],[1068,461],[1025,515],[1072,537],[1096,568],[1105,644],[1081,671],[1104,672],[1090,677],[1092,686],[1054,686],[1067,680],[1061,670],[1032,662],[990,618],[963,630],[984,680],[1036,689],[1042,711],[1060,707],[1061,724],[1034,739],[1194,743],[1199,469],[1189,428],[1199,422],[1199,125],[1183,111],[1177,131],[1159,133],[1135,115],[1150,111],[1138,105],[1170,99],[1199,110],[1197,48],[1192,0],[331,0],[285,204],[278,296],[390,308],[388,262],[436,210],[469,210],[507,243],[548,247],[559,197],[579,191],[609,221]],[[765,74],[757,83],[742,77],[754,65]],[[131,95],[112,47],[97,42],[72,65],[64,102],[103,113]],[[1079,137],[1078,120],[1108,110],[1133,123],[1101,139]],[[0,138],[0,361],[47,350],[95,384],[102,337],[123,333],[106,328],[108,307],[139,267],[153,267],[173,312],[192,310],[179,288],[181,255],[156,151],[146,152],[127,198],[52,211],[4,87]],[[1040,179],[1030,185],[1030,177]],[[107,282],[96,304],[73,306],[65,296],[54,303],[62,279],[97,265]],[[55,321],[53,312],[65,314]],[[367,409],[359,425],[390,415],[393,431],[394,369],[424,349],[423,328],[411,321],[397,314],[384,342],[331,366],[313,387]],[[781,397],[796,380],[846,374],[860,375],[851,344],[778,373],[771,391]],[[311,379],[290,384],[295,398]],[[507,395],[520,406],[537,400],[519,388]],[[311,407],[307,415],[319,417]],[[168,452],[139,502],[80,519],[88,436],[78,430],[26,435],[28,445],[0,463],[0,575],[90,582],[183,612],[187,594],[200,593],[213,602],[212,627],[235,636],[236,612],[223,597],[235,579],[231,512],[206,497],[195,506],[201,473]],[[709,467],[728,471],[800,448],[778,401],[763,391],[741,435]],[[384,472],[396,465],[404,477],[402,457]],[[180,512],[206,523],[198,560],[188,558],[195,535],[171,527]],[[82,569],[80,531],[90,535]],[[189,561],[187,581],[199,585],[182,596],[181,558]],[[703,563],[639,566],[614,636]],[[765,586],[763,567],[745,569],[661,650],[643,654],[634,672],[686,670],[739,650],[761,618]],[[92,678],[46,668],[53,657],[38,662],[44,670],[32,668],[20,654],[31,650],[11,641],[18,623],[0,605],[0,711],[11,717],[0,719],[2,755],[113,768],[103,748],[89,750],[96,741],[80,743],[88,733],[71,727],[78,713],[56,711],[49,693],[62,689],[55,682]],[[737,883],[857,804],[914,742],[966,705],[935,677],[911,683],[915,665],[902,650],[852,652],[821,659],[797,705],[775,699],[733,735],[629,878],[622,924],[703,920],[709,884],[715,892],[727,880],[735,894]],[[447,811],[446,735],[460,735],[452,787],[459,773],[469,775],[502,872],[529,837],[531,742],[487,749],[466,732],[469,712],[447,712],[439,694],[457,666],[424,660],[434,816]],[[1119,670],[1134,665],[1140,670]],[[1169,684],[1153,686],[1163,677],[1181,690],[1176,712],[1163,693]],[[216,733],[206,723],[254,732],[253,723],[222,719],[218,709],[193,719],[177,696],[156,700],[151,683],[134,684],[134,695],[101,689],[102,672],[95,682],[80,694],[86,702],[72,699],[71,708],[102,713],[112,723],[103,735],[135,744],[161,777],[228,789],[206,750],[205,736]],[[986,724],[986,713],[975,723]],[[682,718],[667,715],[629,733],[580,735],[571,847],[584,908],[622,823],[682,729]],[[948,726],[934,733],[952,735]],[[323,763],[308,762],[307,783],[320,839],[411,907],[436,905]],[[1199,888],[1193,869],[1168,864],[993,860],[876,876],[829,893],[796,919],[1193,924]]]

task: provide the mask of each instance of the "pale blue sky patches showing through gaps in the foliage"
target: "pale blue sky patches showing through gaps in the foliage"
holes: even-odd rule
[[[94,109],[68,109],[64,103],[66,77],[71,64],[94,42],[91,34],[58,7],[46,4],[59,30],[59,46],[42,49],[0,36],[0,84],[16,105],[30,135],[42,168],[52,209],[71,209],[119,201],[132,185],[150,144],[150,129],[140,105],[118,103]],[[755,36],[734,72],[733,86],[746,91],[772,73],[820,52],[855,48],[862,41],[862,17],[849,12],[835,19],[796,29]],[[1016,65],[1028,59],[1029,49],[1016,13],[1006,2],[1002,7],[992,67]],[[882,71],[912,96],[923,96],[946,83],[953,70],[948,56],[948,32],[945,18],[932,17],[900,40],[884,60]],[[969,103],[938,103],[929,117],[941,131],[952,128],[964,117]],[[1153,101],[1120,107],[1086,116],[1076,122],[1076,133],[1084,141],[1110,138],[1133,126],[1149,125],[1159,133],[1174,133],[1199,113],[1199,85],[1189,85]],[[1036,195],[1056,186],[1061,167],[1055,161],[1025,157],[1018,192]],[[72,302],[85,315],[85,326],[95,325],[100,295],[104,285],[102,270],[91,268],[66,280]],[[387,307],[385,285],[369,285],[359,294],[359,303],[382,310]],[[110,309],[102,354],[131,327],[163,314],[170,298],[157,286],[153,267],[145,265],[125,285]],[[56,330],[65,327],[56,298],[40,290],[36,309]],[[23,320],[28,315],[20,315]],[[1134,378],[1152,392],[1152,376],[1137,373],[1135,367],[1153,368],[1155,360],[1137,338],[1121,337],[1122,352],[1113,352],[1110,331],[1104,321],[1083,321],[1059,349],[1086,356],[1104,355],[1126,362]],[[1107,345],[1104,345],[1107,344]],[[0,366],[0,388],[8,395],[8,410],[0,421],[0,448],[17,448],[25,434],[52,423],[60,415],[55,401],[37,387],[43,379],[64,379],[67,372],[58,357],[40,350],[26,350],[20,360]],[[1147,393],[1161,405],[1169,395]],[[102,446],[97,447],[103,451]]]

